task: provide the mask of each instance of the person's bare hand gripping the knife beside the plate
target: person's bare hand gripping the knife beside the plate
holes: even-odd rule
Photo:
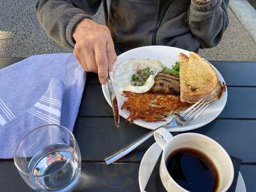
[[[96,72],[100,83],[106,83],[108,71],[113,69],[116,52],[107,26],[83,19],[73,33],[76,40],[74,56],[86,72]]]

